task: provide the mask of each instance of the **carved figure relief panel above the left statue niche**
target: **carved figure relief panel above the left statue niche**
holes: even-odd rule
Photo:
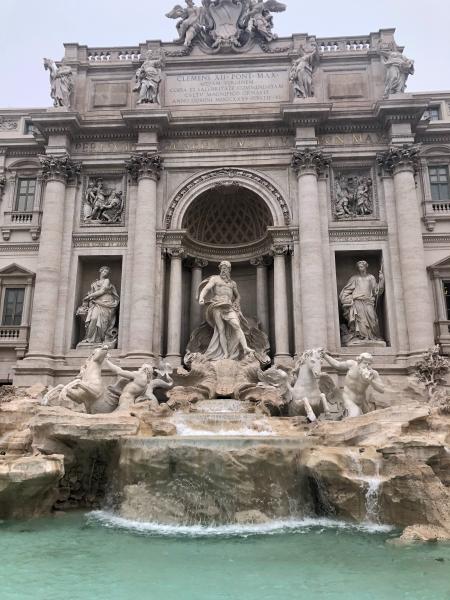
[[[88,175],[82,190],[81,226],[124,226],[125,200],[124,175]]]

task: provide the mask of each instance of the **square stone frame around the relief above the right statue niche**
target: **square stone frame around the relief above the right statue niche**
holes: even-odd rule
[[[338,175],[356,175],[356,176],[368,176],[372,179],[372,203],[373,213],[371,215],[357,215],[355,217],[349,217],[347,219],[338,219],[335,212],[336,205],[336,181]],[[380,200],[378,194],[378,176],[373,162],[367,163],[350,163],[338,161],[333,163],[330,177],[330,203],[329,203],[329,217],[333,225],[336,223],[349,225],[350,223],[367,222],[367,221],[380,221]]]

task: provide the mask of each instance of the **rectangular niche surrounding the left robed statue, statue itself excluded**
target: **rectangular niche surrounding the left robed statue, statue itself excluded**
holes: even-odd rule
[[[78,255],[75,257],[76,263],[76,281],[74,294],[72,296],[73,302],[71,303],[71,312],[73,315],[72,327],[71,327],[71,341],[70,349],[71,352],[77,352],[81,354],[90,354],[90,348],[77,348],[77,344],[83,339],[83,324],[81,319],[76,316],[76,311],[81,306],[83,297],[89,292],[90,285],[92,282],[98,279],[98,271],[102,266],[111,267],[111,281],[116,286],[117,292],[120,296],[119,311],[117,313],[117,329],[119,331],[117,348],[120,349],[122,344],[121,336],[121,316],[122,316],[122,305],[123,305],[123,293],[124,289],[124,257],[122,255]]]

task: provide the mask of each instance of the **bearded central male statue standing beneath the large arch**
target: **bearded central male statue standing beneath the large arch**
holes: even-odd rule
[[[213,275],[200,284],[199,303],[206,306],[206,321],[214,334],[205,356],[209,360],[241,357],[254,352],[247,344],[244,328],[248,324],[241,312],[241,297],[236,282],[231,279],[231,263],[219,265],[220,275]]]

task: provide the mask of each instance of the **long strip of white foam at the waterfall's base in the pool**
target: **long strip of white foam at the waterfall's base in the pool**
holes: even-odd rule
[[[280,533],[307,533],[311,529],[353,530],[364,533],[387,533],[394,527],[377,523],[346,523],[333,519],[306,517],[303,519],[281,519],[261,524],[248,525],[162,525],[133,521],[105,511],[94,511],[87,515],[88,521],[112,529],[133,531],[142,535],[166,537],[248,537],[253,535],[275,535]]]

